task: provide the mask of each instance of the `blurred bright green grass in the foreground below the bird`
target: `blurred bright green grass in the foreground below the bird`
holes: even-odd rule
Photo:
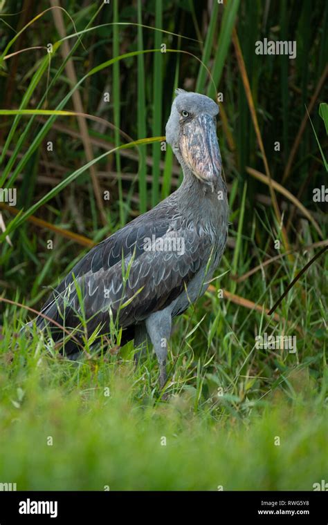
[[[215,392],[197,410],[194,388],[156,402],[149,363],[74,365],[36,344],[10,357],[2,347],[0,479],[18,490],[312,490],[325,479],[324,392],[304,371],[290,378],[293,403],[269,394],[240,419]]]

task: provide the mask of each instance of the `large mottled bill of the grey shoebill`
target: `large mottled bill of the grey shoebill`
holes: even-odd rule
[[[185,164],[199,180],[212,185],[219,178],[221,155],[215,123],[210,115],[204,113],[186,122],[179,146]]]

